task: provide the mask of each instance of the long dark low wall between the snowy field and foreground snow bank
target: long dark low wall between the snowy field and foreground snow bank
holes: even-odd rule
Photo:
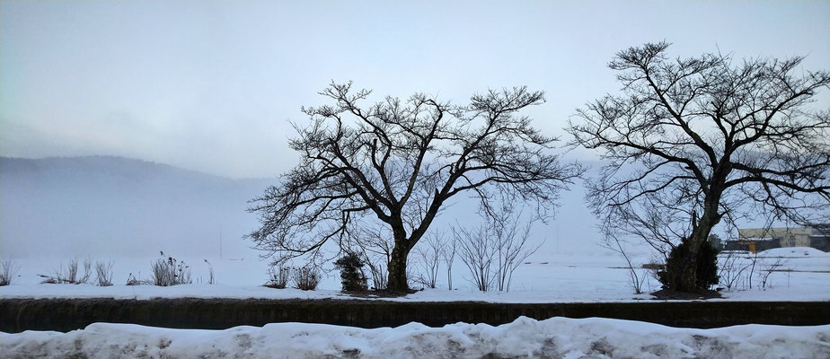
[[[165,328],[224,329],[271,322],[325,323],[362,328],[418,321],[432,327],[464,321],[498,325],[526,316],[602,317],[672,327],[738,324],[830,324],[830,302],[598,302],[490,303],[260,299],[3,299],[0,331],[69,331],[93,322]]]

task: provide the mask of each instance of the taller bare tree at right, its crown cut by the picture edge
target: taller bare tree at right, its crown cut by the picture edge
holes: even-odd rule
[[[605,232],[662,250],[685,238],[668,286],[696,292],[698,252],[721,220],[815,223],[826,208],[830,115],[809,103],[830,74],[800,70],[802,57],[670,59],[668,46],[619,52],[609,66],[623,94],[587,103],[568,132],[608,161],[587,184]]]

